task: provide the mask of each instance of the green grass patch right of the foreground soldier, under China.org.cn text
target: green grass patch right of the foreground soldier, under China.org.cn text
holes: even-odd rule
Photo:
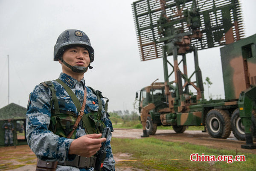
[[[133,161],[116,162],[116,167],[134,167],[143,171],[255,171],[256,155],[243,154],[245,162],[192,162],[190,155],[242,155],[189,143],[166,142],[155,138],[113,138],[113,154],[127,153]],[[135,160],[135,161],[134,161]]]

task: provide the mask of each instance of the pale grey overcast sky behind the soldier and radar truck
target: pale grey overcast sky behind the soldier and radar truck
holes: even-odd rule
[[[109,111],[133,109],[136,91],[155,79],[163,81],[163,61],[140,61],[131,3],[134,0],[0,0],[0,108],[10,103],[26,107],[29,93],[43,81],[58,78],[61,65],[53,47],[66,29],[80,29],[95,50],[86,85],[109,98]],[[256,34],[256,0],[241,0],[245,35]],[[187,59],[187,64],[192,60]],[[224,98],[219,47],[198,52],[210,93]],[[170,61],[172,61],[170,59]],[[191,74],[191,73],[190,73]],[[208,90],[205,87],[205,97]]]

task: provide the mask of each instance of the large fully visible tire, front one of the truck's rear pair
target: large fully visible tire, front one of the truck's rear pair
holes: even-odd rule
[[[230,136],[231,122],[228,113],[221,109],[212,109],[206,116],[206,129],[213,138],[226,139]]]

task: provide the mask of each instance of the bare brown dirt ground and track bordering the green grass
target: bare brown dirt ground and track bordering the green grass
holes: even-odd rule
[[[130,138],[130,139],[140,139],[142,135],[141,129],[115,129],[112,133],[113,137],[116,138]],[[171,142],[189,142],[196,145],[205,145],[212,148],[218,148],[218,149],[233,149],[236,150],[239,154],[256,154],[256,149],[254,150],[247,150],[242,149],[241,145],[245,144],[244,141],[238,141],[231,133],[229,138],[227,139],[214,139],[211,138],[208,133],[204,133],[201,130],[186,130],[184,133],[175,133],[174,130],[157,130],[156,134],[152,137],[155,137],[157,139],[163,139],[166,141]],[[2,147],[0,148],[0,154],[6,153],[8,151],[8,154],[10,155],[20,155],[23,156],[19,160],[15,159],[9,159],[5,160],[4,157],[0,157],[0,166],[7,165],[7,163],[12,163],[12,165],[22,165],[25,163],[22,161],[22,158],[28,158],[31,159],[29,162],[31,164],[26,164],[20,168],[16,169],[9,169],[6,170],[4,168],[0,171],[6,170],[6,171],[35,171],[35,163],[36,163],[36,157],[35,154],[29,149],[28,145],[20,145],[17,146],[16,149],[14,147]],[[121,160],[127,160],[130,159],[131,154],[114,154],[114,159],[116,160],[116,163],[118,166],[118,162]],[[116,171],[143,171],[141,169],[136,168],[118,168],[116,167]]]

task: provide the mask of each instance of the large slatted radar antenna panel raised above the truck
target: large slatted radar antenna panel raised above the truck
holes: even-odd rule
[[[198,50],[244,37],[238,0],[139,0],[132,9],[141,61],[163,57],[162,46],[169,40],[195,32],[201,37],[191,38],[191,46]]]

